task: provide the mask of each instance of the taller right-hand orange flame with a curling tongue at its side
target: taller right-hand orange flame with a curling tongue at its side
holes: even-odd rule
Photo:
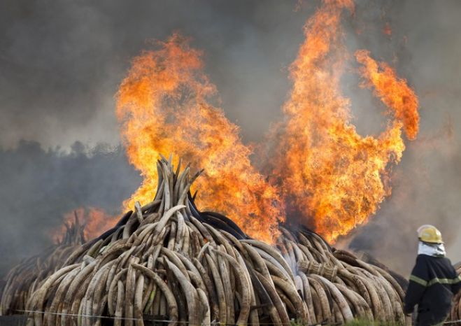
[[[350,100],[339,83],[348,57],[340,21],[350,1],[325,1],[305,27],[306,41],[290,66],[293,87],[283,107],[272,180],[283,190],[290,215],[334,241],[367,221],[390,194],[390,164],[404,151],[402,128],[409,139],[418,133],[418,99],[406,80],[386,64],[358,51],[360,72],[374,94],[394,112],[379,136],[360,136],[350,123]],[[378,69],[379,68],[379,69]],[[380,70],[381,69],[381,70]]]

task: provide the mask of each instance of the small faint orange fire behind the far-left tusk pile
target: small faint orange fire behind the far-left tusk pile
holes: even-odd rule
[[[77,208],[75,211],[64,214],[64,222],[59,229],[52,232],[52,237],[59,243],[66,233],[66,225],[73,225],[78,221],[83,225],[83,236],[87,240],[96,238],[101,234],[101,231],[106,231],[114,227],[118,222],[118,217],[108,215],[100,208]]]

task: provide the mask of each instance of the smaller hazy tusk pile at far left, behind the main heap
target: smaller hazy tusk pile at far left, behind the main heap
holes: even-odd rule
[[[73,224],[64,223],[66,232],[61,241],[43,253],[29,257],[17,264],[6,276],[0,302],[0,315],[17,314],[26,309],[26,303],[38,285],[62,267],[71,253],[85,243],[84,225],[77,215]]]

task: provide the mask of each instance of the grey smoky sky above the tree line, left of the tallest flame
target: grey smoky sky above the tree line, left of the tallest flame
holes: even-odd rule
[[[0,146],[120,141],[113,95],[132,57],[179,30],[205,52],[227,117],[262,137],[288,90],[310,8],[297,1],[0,3]],[[248,92],[248,90],[252,90]],[[264,117],[255,115],[264,111]]]

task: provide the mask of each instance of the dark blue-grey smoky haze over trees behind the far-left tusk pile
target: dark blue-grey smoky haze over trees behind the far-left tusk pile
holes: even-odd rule
[[[0,150],[0,162],[0,276],[50,246],[64,213],[96,206],[118,215],[141,183],[120,147],[88,150],[76,142],[64,153],[21,141]]]

